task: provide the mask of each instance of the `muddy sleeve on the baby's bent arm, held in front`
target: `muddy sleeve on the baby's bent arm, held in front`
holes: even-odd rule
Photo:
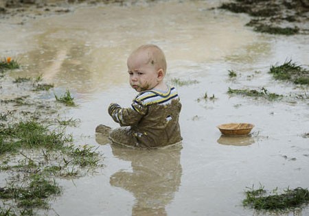
[[[147,106],[139,104],[136,101],[133,102],[130,108],[122,108],[118,104],[108,106],[109,115],[120,126],[136,125],[147,114],[147,111]]]

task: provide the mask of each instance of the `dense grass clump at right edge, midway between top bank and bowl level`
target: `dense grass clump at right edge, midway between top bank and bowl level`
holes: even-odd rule
[[[281,65],[272,65],[269,73],[273,74],[276,80],[286,80],[294,84],[309,84],[309,70],[302,68],[292,60]]]

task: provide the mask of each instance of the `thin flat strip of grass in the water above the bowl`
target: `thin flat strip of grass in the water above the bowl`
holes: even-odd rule
[[[262,88],[261,91],[254,90],[254,89],[232,89],[229,88],[227,91],[228,94],[231,95],[244,95],[248,97],[263,97],[268,100],[275,100],[275,99],[280,99],[283,96],[282,95],[277,95],[275,93],[269,93],[266,88]]]

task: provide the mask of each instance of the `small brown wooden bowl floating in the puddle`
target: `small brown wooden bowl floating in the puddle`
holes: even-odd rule
[[[253,127],[251,123],[224,123],[217,126],[222,134],[229,136],[249,134]]]

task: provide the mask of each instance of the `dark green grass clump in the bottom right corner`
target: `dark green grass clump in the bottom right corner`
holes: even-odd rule
[[[252,188],[245,191],[245,193],[246,199],[242,201],[242,204],[256,210],[289,211],[309,203],[309,191],[301,187],[286,189],[281,194],[277,194],[277,189],[275,189],[271,194],[267,195],[264,187],[257,190]]]

